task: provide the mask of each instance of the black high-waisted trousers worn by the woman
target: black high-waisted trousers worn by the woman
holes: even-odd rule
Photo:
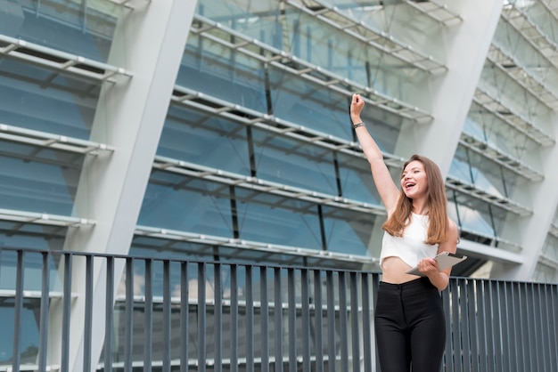
[[[380,282],[374,316],[382,372],[439,372],[446,322],[439,291],[428,278]]]

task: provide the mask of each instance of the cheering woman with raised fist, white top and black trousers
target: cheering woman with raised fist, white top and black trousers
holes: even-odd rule
[[[374,315],[380,366],[382,372],[439,372],[446,344],[439,291],[447,287],[451,269],[439,271],[432,257],[455,253],[457,226],[447,216],[444,180],[430,159],[410,158],[398,190],[360,118],[364,106],[362,97],[353,94],[350,118],[388,212]],[[414,266],[424,277],[406,273]]]

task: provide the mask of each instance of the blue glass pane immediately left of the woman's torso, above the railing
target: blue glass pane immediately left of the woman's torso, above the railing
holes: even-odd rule
[[[327,250],[370,256],[368,246],[377,216],[327,206],[323,207],[323,213]]]

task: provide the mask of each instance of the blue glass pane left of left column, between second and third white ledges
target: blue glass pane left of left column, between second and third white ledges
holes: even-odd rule
[[[18,152],[18,158],[0,156],[0,206],[27,212],[71,215],[76,194],[80,169],[67,163],[47,159],[56,155],[64,158],[64,153],[36,149],[28,145],[3,143],[4,150]],[[26,156],[24,153],[33,154]],[[75,154],[73,155],[75,157]],[[40,157],[38,161],[29,161]],[[78,157],[81,159],[81,157]],[[58,163],[58,164],[57,164]]]

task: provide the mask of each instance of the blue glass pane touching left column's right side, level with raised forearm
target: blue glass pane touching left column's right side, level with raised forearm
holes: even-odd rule
[[[246,127],[171,106],[157,154],[236,174],[250,174]]]

